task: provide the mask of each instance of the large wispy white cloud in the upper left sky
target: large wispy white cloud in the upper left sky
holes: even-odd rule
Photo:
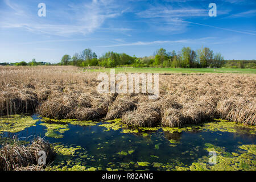
[[[69,5],[68,13],[63,13],[65,19],[68,17],[68,23],[46,23],[39,22],[38,17],[28,14],[19,6],[10,0],[4,1],[14,13],[9,12],[11,16],[0,20],[2,28],[23,28],[24,30],[49,35],[69,36],[72,34],[86,35],[98,30],[106,19],[116,18],[122,14],[122,9],[113,6],[113,1],[93,0],[81,5]],[[56,12],[56,16],[58,16]],[[24,18],[26,17],[26,18]],[[105,29],[107,30],[107,29]],[[109,31],[128,31],[128,28],[109,28]]]

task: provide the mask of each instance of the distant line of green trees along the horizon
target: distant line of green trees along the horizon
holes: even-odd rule
[[[155,67],[155,68],[256,68],[256,60],[224,60],[221,53],[214,53],[208,47],[197,51],[190,47],[183,47],[181,51],[167,52],[160,48],[152,56],[136,57],[126,53],[106,52],[98,57],[92,49],[84,49],[72,57],[64,55],[57,64],[36,62],[35,59],[21,61],[13,64],[0,63],[0,65],[75,65],[78,67]]]

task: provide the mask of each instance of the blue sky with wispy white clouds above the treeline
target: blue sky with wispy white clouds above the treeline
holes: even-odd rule
[[[209,3],[217,16],[210,17]],[[46,17],[38,4],[46,4]],[[49,61],[91,48],[150,56],[161,47],[207,46],[225,59],[256,59],[256,1],[0,0],[0,62]]]

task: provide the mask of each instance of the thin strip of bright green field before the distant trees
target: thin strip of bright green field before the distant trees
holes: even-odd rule
[[[84,69],[90,72],[110,72],[110,69]],[[235,68],[115,68],[115,73],[246,73],[255,74],[256,69]]]

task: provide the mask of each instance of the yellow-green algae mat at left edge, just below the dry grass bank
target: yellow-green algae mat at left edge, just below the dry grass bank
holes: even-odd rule
[[[39,119],[33,119],[27,115],[9,115],[0,117],[0,132],[18,133],[24,129],[36,126]]]

